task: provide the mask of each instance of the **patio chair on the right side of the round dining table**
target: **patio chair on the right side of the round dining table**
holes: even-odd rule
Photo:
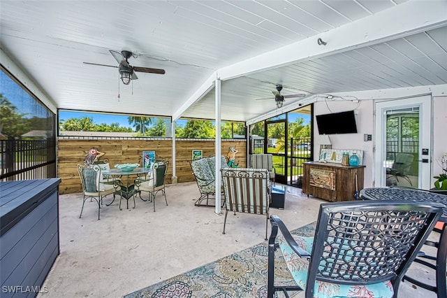
[[[165,178],[166,173],[168,172],[168,161],[158,161],[154,162],[152,165],[152,170],[150,171],[149,180],[135,180],[135,192],[148,192],[149,199],[148,201],[154,202],[154,212],[155,212],[155,197],[158,192],[161,192],[165,197],[166,206],[168,206],[168,199],[166,199],[166,191],[165,191]],[[143,201],[145,201],[143,199]]]

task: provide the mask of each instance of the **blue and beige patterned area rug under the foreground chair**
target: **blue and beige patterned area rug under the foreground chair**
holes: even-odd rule
[[[313,236],[314,232],[315,222],[294,229],[291,234]],[[275,258],[275,284],[293,285],[293,278],[281,253],[275,253]],[[267,270],[268,244],[265,241],[166,281],[124,295],[124,298],[267,297]]]

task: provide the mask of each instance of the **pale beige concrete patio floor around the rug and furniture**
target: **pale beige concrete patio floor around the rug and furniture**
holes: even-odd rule
[[[199,197],[196,183],[166,187],[166,206],[161,194],[152,203],[129,200],[129,210],[119,197],[101,208],[98,220],[96,201],[87,200],[79,218],[82,194],[59,197],[61,253],[45,280],[47,293],[38,297],[122,297],[130,292],[182,274],[196,267],[264,241],[265,217],[228,214],[226,234],[223,215],[214,208],[194,206]],[[110,203],[112,197],[105,198]],[[325,202],[287,187],[284,210],[271,208],[289,229],[316,220],[318,206]],[[270,235],[270,223],[269,232]],[[433,272],[412,265],[422,279],[434,279]],[[304,297],[304,292],[297,297]],[[433,292],[401,283],[398,297],[436,297]]]

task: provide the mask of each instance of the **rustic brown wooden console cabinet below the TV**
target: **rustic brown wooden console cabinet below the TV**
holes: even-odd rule
[[[365,166],[342,166],[324,162],[305,162],[302,192],[327,201],[355,199],[356,176],[358,192],[363,188]]]

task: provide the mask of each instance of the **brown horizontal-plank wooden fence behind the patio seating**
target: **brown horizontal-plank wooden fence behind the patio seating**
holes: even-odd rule
[[[175,142],[175,170],[177,182],[193,181],[189,161],[192,150],[203,150],[203,157],[214,156],[214,140],[184,140]],[[247,142],[245,140],[223,140],[221,143],[222,155],[226,156],[228,149],[233,146],[237,149],[236,163],[247,166]],[[91,147],[104,152],[100,159],[108,159],[110,166],[122,163],[142,164],[142,151],[154,150],[157,157],[169,161],[167,183],[171,183],[173,176],[173,155],[171,139],[64,139],[57,142],[57,176],[61,178],[60,194],[82,192],[82,186],[76,164],[83,164],[84,158]]]

